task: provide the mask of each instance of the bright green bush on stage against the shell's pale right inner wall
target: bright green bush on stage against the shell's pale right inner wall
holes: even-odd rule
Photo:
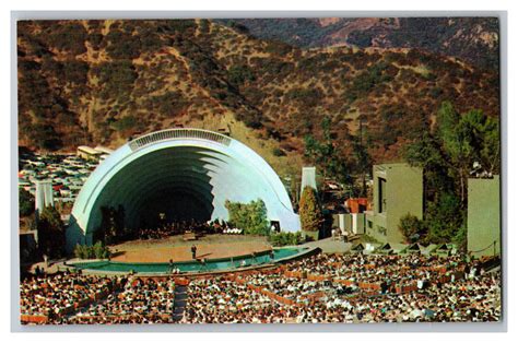
[[[242,228],[246,235],[268,235],[270,227],[267,205],[258,199],[249,203],[225,201],[231,225]]]

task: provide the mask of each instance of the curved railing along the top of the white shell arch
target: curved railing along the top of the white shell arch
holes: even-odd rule
[[[131,151],[136,151],[148,144],[177,139],[209,140],[226,146],[228,146],[232,142],[231,138],[213,131],[201,129],[168,129],[136,138],[131,142],[129,142],[129,146]]]

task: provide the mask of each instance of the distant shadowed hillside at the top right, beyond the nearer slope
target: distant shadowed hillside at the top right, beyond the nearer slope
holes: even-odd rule
[[[301,48],[420,48],[498,71],[496,17],[233,19],[220,22]]]

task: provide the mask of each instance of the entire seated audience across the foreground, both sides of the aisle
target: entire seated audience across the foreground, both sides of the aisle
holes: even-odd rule
[[[460,256],[320,253],[273,270],[192,279],[180,322],[496,321],[501,273],[484,267]],[[50,323],[177,322],[174,277],[30,277],[21,284],[21,310]],[[419,286],[362,287],[409,282]]]

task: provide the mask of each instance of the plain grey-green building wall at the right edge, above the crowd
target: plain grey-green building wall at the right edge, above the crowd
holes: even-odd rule
[[[468,179],[468,251],[472,256],[501,253],[501,178]]]

